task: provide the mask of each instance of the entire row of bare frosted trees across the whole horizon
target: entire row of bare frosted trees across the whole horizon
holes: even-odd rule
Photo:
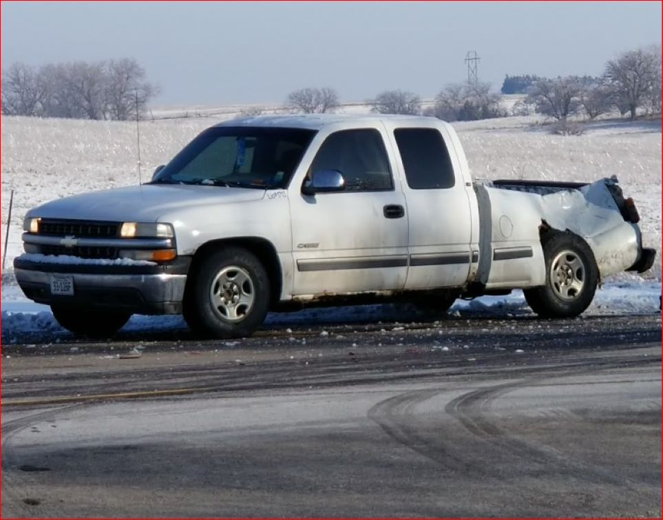
[[[618,110],[635,118],[640,112],[661,112],[661,46],[623,52],[605,65],[600,77],[533,74],[507,75],[501,92],[527,94],[510,114],[501,94],[489,83],[452,83],[423,108],[421,96],[406,90],[385,90],[366,100],[372,112],[435,116],[445,121],[472,121],[527,115],[530,110],[567,121],[584,114],[590,119]],[[145,79],[145,70],[134,59],[87,63],[58,63],[30,67],[14,63],[2,72],[2,113],[21,116],[127,120],[141,114],[158,88]],[[288,94],[288,112],[315,114],[340,107],[331,87],[306,87]],[[243,115],[262,109],[253,107]]]

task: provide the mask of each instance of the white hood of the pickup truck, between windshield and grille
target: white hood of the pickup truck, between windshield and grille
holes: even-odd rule
[[[53,200],[32,209],[28,215],[114,222],[155,222],[162,214],[178,209],[260,200],[264,195],[264,189],[221,186],[128,186]]]

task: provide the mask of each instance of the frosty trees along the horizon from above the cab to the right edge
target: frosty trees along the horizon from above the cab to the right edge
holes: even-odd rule
[[[379,114],[423,114],[445,121],[528,115],[529,107],[558,121],[581,113],[593,119],[615,109],[634,119],[638,110],[647,114],[661,112],[661,47],[623,52],[606,63],[600,77],[549,79],[533,74],[507,75],[501,93],[527,94],[527,98],[507,114],[501,105],[501,94],[492,91],[489,83],[454,83],[446,85],[435,96],[434,105],[425,109],[418,94],[404,90],[386,90],[366,103]],[[330,112],[339,107],[338,99],[333,89],[306,88],[292,92],[286,107],[293,112]]]

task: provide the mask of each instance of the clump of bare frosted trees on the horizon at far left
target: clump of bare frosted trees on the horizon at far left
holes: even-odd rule
[[[135,59],[74,61],[2,71],[2,113],[125,121],[145,111],[158,87]]]

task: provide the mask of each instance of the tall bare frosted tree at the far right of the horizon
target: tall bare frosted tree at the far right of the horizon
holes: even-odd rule
[[[631,112],[635,119],[638,107],[648,99],[660,98],[660,46],[620,54],[606,64],[605,78],[620,112]]]

